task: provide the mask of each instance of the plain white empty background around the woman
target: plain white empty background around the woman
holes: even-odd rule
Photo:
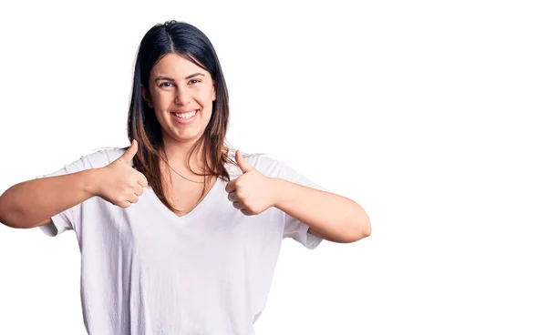
[[[349,4],[3,3],[0,191],[129,145],[139,41],[186,21],[221,60],[231,144],[372,222],[285,239],[258,335],[545,334],[545,8]],[[0,334],[85,334],[74,232],[0,225],[0,271]]]

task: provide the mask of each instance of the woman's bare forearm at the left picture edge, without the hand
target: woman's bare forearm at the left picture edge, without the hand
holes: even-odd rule
[[[97,169],[37,178],[16,184],[0,196],[0,222],[12,228],[33,228],[46,218],[95,196]]]

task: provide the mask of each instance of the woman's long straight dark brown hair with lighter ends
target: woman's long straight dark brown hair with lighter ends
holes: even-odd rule
[[[169,21],[154,25],[142,38],[139,53],[134,67],[133,89],[128,115],[129,142],[139,142],[137,155],[133,157],[133,167],[141,172],[149,182],[161,202],[171,211],[175,208],[165,196],[161,183],[160,159],[165,159],[160,122],[153,108],[148,107],[140,92],[140,86],[149,89],[150,70],[161,57],[176,53],[186,57],[192,63],[208,71],[214,83],[216,100],[212,102],[212,117],[202,136],[191,147],[188,162],[192,153],[203,146],[203,166],[205,173],[196,173],[204,179],[216,176],[224,181],[230,175],[224,164],[236,165],[228,157],[227,148],[232,147],[226,140],[230,111],[228,107],[228,90],[222,75],[219,59],[211,41],[201,30],[183,22]],[[127,149],[129,147],[126,147]],[[207,159],[210,157],[210,159]],[[212,165],[210,165],[210,161]],[[193,171],[192,171],[193,172]],[[203,190],[205,191],[205,189]],[[203,193],[201,194],[203,196]]]

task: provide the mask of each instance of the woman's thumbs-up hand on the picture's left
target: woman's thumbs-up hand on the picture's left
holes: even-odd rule
[[[128,208],[139,201],[148,180],[142,173],[129,166],[129,162],[137,154],[137,141],[131,142],[131,147],[118,159],[106,167],[98,168],[97,196],[104,198],[112,205]]]

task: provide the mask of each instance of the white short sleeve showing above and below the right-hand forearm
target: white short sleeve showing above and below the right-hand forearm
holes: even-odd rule
[[[287,166],[282,160],[271,157],[259,157],[255,167],[261,170],[266,176],[283,178],[294,184],[327,191],[325,188],[296,172],[294,168]],[[308,229],[309,226],[304,222],[284,213],[284,239],[291,238],[302,244],[306,249],[315,249],[323,239],[308,233]]]

